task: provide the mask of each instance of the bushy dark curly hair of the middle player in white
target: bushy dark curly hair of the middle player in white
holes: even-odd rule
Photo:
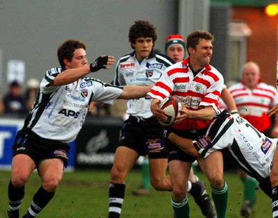
[[[152,37],[153,42],[156,42],[156,28],[153,24],[145,20],[136,20],[129,28],[129,42],[131,42],[131,48],[135,49],[132,44],[136,42],[138,37]]]

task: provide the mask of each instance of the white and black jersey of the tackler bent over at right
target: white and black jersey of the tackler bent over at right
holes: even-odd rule
[[[222,150],[234,165],[256,179],[270,175],[277,142],[277,138],[266,137],[243,117],[223,115],[223,112],[205,135],[193,140],[204,158],[213,151]]]

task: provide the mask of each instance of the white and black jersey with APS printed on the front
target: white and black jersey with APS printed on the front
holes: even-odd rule
[[[72,142],[85,121],[90,101],[113,103],[122,93],[122,87],[88,77],[54,87],[51,82],[60,72],[60,68],[47,70],[24,128],[43,138]]]

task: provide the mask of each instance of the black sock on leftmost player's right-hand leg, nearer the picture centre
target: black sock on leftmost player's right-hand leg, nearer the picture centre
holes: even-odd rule
[[[35,193],[31,206],[28,208],[28,213],[36,217],[38,213],[47,206],[47,203],[53,198],[55,192],[47,192],[41,186],[38,192]]]

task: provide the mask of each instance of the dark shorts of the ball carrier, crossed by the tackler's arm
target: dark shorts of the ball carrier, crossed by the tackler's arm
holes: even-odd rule
[[[176,133],[177,135],[181,137],[186,137],[188,139],[195,139],[196,137],[206,133],[206,130],[207,128],[192,131],[179,131],[177,129],[170,128],[170,132]],[[178,146],[176,146],[169,140],[166,141],[166,146],[169,150],[168,162],[170,160],[181,160],[183,162],[194,162],[196,160],[195,157],[190,156],[187,153],[184,153],[183,151],[181,151],[181,149],[179,149]]]

